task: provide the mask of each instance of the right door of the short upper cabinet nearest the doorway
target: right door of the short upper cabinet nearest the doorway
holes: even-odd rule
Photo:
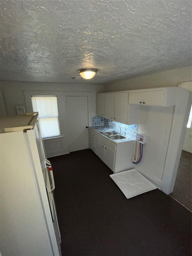
[[[164,91],[143,92],[143,104],[152,106],[162,106]]]

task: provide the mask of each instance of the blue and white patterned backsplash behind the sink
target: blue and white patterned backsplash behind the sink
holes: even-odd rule
[[[107,126],[116,132],[120,132],[120,128],[121,128],[121,134],[124,135],[125,133],[126,136],[130,136],[130,137],[135,137],[137,133],[137,124],[127,125],[127,124],[122,124],[122,123],[108,120],[101,116],[92,117],[92,126],[98,126],[98,125]],[[117,125],[120,126],[120,128]]]

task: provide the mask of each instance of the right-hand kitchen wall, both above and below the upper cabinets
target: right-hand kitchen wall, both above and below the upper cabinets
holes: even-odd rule
[[[190,80],[191,67],[185,67],[106,84],[105,92],[178,86],[178,83]],[[145,133],[147,141],[143,147],[143,160],[135,168],[160,188],[173,114],[174,107],[139,107],[142,122],[138,124],[138,132]]]

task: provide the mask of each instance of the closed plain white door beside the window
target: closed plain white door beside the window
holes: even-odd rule
[[[66,96],[66,107],[70,152],[88,148],[87,96]]]

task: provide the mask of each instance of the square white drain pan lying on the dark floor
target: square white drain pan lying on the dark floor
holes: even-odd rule
[[[110,175],[126,198],[140,195],[157,187],[135,169]]]

